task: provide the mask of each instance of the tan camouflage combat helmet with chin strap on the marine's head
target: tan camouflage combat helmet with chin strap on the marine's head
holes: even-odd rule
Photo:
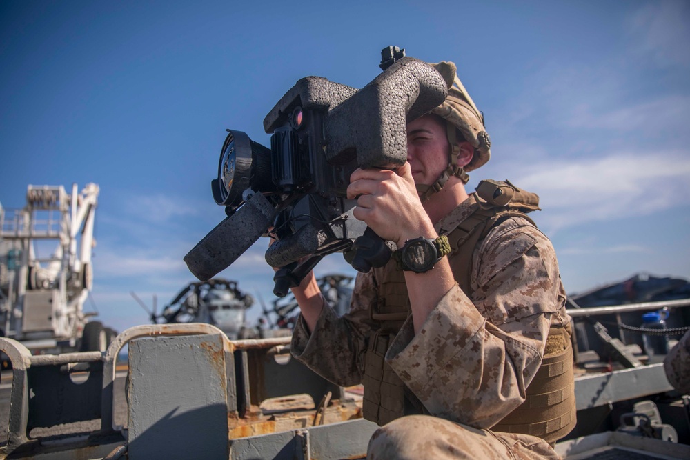
[[[446,97],[444,103],[431,110],[431,113],[446,120],[446,133],[451,144],[451,157],[448,168],[435,183],[431,186],[420,186],[417,188],[417,191],[422,194],[422,199],[426,199],[431,194],[441,190],[451,175],[459,177],[463,183],[467,183],[469,180],[467,172],[479,168],[486,161],[489,161],[489,157],[491,157],[491,138],[489,138],[489,134],[484,128],[484,115],[477,109],[462,82],[457,78],[455,63],[441,61],[439,63],[432,63],[431,66],[449,84],[448,97]],[[464,168],[457,166],[457,157],[460,154],[460,150],[457,146],[455,128],[460,130],[464,139],[471,143],[474,148],[474,155]]]

